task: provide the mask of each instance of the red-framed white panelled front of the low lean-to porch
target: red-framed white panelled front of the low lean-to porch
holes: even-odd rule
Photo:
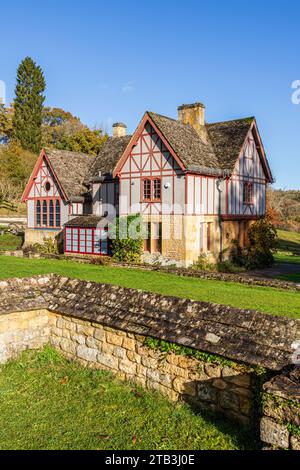
[[[105,227],[65,227],[64,252],[81,255],[108,256],[108,230]]]

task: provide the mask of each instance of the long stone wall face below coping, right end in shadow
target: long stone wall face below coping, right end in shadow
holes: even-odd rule
[[[50,324],[51,344],[69,359],[109,370],[196,409],[251,423],[255,376],[250,371],[162,353],[145,346],[143,336],[74,317],[52,314]]]

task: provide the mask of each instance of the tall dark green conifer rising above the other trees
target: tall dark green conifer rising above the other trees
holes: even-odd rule
[[[42,143],[43,95],[46,88],[43,71],[26,57],[17,71],[14,101],[13,137],[25,150],[38,153]]]

